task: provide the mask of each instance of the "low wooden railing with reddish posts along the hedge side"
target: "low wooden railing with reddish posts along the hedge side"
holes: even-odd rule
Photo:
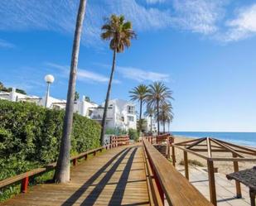
[[[128,137],[129,138],[129,137]],[[70,158],[70,161],[73,163],[73,165],[77,165],[77,162],[79,159],[81,158],[85,158],[85,160],[87,160],[87,157],[89,155],[96,155],[97,152],[101,152],[103,151],[104,149],[111,149],[111,148],[114,148],[114,147],[117,147],[117,146],[123,146],[123,145],[126,145],[127,144],[127,141],[128,141],[128,138],[118,138],[118,137],[114,137],[114,143],[110,143],[109,145],[106,145],[106,146],[101,146],[99,148],[96,148],[96,149],[93,149],[93,150],[90,150],[90,151],[85,151],[83,153],[80,153],[79,155],[77,156],[72,156]],[[34,170],[30,170],[30,171],[27,171],[25,173],[22,173],[20,175],[15,175],[13,177],[10,177],[10,178],[7,178],[6,180],[1,180],[0,181],[0,189],[3,189],[9,185],[12,185],[12,184],[17,184],[18,182],[21,182],[21,192],[22,193],[27,193],[27,190],[28,190],[28,183],[29,183],[29,179],[33,176],[36,176],[36,175],[42,175],[43,173],[46,173],[50,170],[55,170],[56,169],[56,162],[54,163],[51,163],[50,165],[46,165],[44,167],[41,167],[41,168],[36,168]]]

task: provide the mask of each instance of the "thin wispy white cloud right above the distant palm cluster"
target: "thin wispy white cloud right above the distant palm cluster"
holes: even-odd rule
[[[170,80],[169,74],[160,74],[157,72],[146,71],[143,69],[138,69],[134,67],[122,67],[118,66],[117,70],[120,74],[123,74],[123,77],[126,79],[133,79],[138,82],[144,81],[165,81]]]

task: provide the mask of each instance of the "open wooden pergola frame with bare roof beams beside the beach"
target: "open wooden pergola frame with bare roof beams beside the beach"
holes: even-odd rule
[[[211,137],[203,137],[199,139],[193,139],[190,141],[182,141],[172,145],[172,164],[176,165],[175,148],[181,149],[184,152],[184,165],[186,179],[189,180],[188,171],[188,158],[187,153],[191,153],[195,156],[199,156],[207,161],[208,168],[208,180],[210,188],[210,202],[217,205],[216,189],[215,189],[215,168],[214,161],[232,161],[234,164],[234,172],[239,171],[239,161],[255,161],[256,162],[256,150],[246,146],[238,146],[226,141],[221,141]],[[231,157],[215,157],[214,152],[231,153]],[[244,156],[247,155],[247,156]],[[236,184],[237,198],[241,198],[241,188],[239,181]]]

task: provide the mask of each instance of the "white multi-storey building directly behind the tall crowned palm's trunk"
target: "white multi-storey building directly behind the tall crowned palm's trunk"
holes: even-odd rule
[[[104,103],[98,108],[95,108],[91,118],[102,121],[104,113]],[[135,113],[135,104],[122,100],[113,99],[109,101],[109,108],[106,117],[107,128],[120,128],[128,130],[129,128],[137,128],[137,117]]]

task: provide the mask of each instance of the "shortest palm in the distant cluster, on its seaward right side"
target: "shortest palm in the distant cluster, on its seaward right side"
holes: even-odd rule
[[[171,103],[163,103],[160,107],[159,121],[162,122],[163,132],[166,132],[166,123],[172,122],[173,113]]]

